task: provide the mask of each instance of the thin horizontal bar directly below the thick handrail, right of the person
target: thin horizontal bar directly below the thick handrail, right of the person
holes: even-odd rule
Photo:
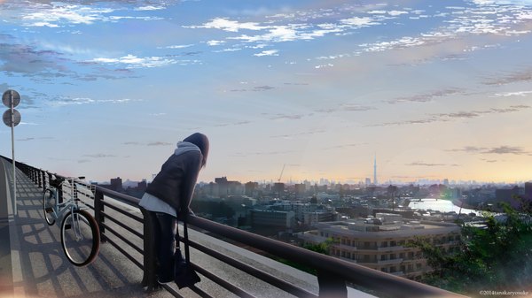
[[[184,240],[182,240],[184,241]],[[279,279],[273,275],[271,275],[268,272],[256,269],[248,264],[242,263],[239,260],[236,260],[234,258],[231,258],[231,256],[223,255],[222,253],[212,249],[207,248],[197,242],[189,241],[190,246],[192,248],[196,248],[200,250],[201,252],[213,256],[216,259],[222,261],[225,264],[230,264],[231,266],[239,269],[240,271],[244,271],[252,276],[254,276],[257,279],[262,279],[263,281],[269,283],[272,286],[278,287],[282,289],[283,291],[286,291],[287,293],[293,294],[298,297],[313,297],[317,298],[317,294],[313,294],[312,292],[309,292],[301,287],[293,286],[292,284],[286,282],[283,279]]]

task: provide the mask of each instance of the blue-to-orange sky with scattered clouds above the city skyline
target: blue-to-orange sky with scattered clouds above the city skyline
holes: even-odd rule
[[[531,49],[528,0],[0,0],[15,159],[99,181],[195,132],[206,182],[532,180]]]

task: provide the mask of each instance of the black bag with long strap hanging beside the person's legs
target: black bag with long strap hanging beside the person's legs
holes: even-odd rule
[[[184,287],[192,287],[195,283],[200,282],[200,276],[192,269],[191,256],[188,246],[188,231],[186,227],[186,220],[184,224],[184,257],[181,255],[179,248],[179,234],[176,233],[176,241],[178,243],[176,252],[174,253],[174,281],[179,289]]]

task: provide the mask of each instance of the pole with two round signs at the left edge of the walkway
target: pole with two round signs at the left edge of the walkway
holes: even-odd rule
[[[20,94],[15,90],[7,90],[2,96],[2,102],[7,109],[4,111],[3,120],[6,126],[11,126],[12,128],[12,164],[13,164],[13,215],[17,216],[17,175],[15,167],[15,126],[18,126],[20,123],[20,112],[15,110],[15,107],[20,103]]]

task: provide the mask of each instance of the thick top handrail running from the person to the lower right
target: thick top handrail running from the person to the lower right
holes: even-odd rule
[[[262,249],[274,256],[280,256],[300,264],[307,264],[318,271],[332,272],[358,286],[382,293],[393,293],[396,297],[456,296],[462,295],[431,287],[410,279],[376,271],[358,264],[351,264],[332,256],[325,256],[305,248],[295,247],[280,241],[273,241],[261,235],[222,225],[205,218],[189,215],[187,222],[201,229],[216,233],[233,241]]]

